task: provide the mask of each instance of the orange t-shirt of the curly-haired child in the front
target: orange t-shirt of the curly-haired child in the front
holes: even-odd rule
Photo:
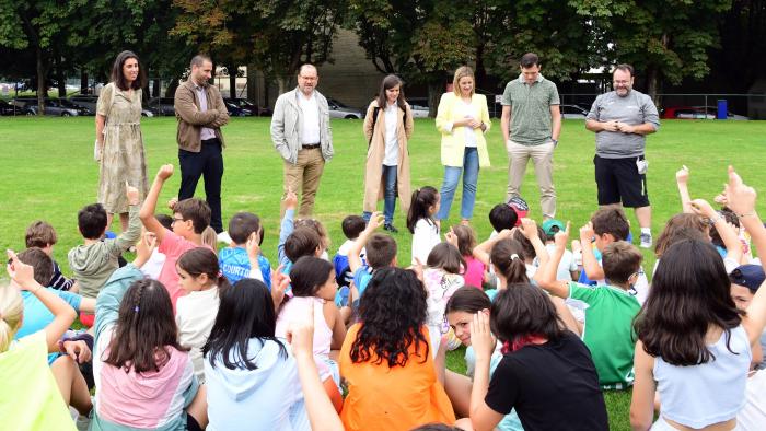
[[[340,420],[347,431],[409,430],[415,427],[444,422],[453,424],[455,413],[444,387],[437,380],[433,357],[420,346],[418,354],[410,346],[405,366],[388,368],[386,362],[373,360],[351,362],[351,345],[362,324],[353,325],[340,348],[340,375],[348,382]],[[426,340],[428,328],[422,327]],[[423,361],[423,357],[426,361]]]

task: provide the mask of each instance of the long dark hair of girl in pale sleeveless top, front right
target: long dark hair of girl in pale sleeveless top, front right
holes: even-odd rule
[[[649,298],[634,321],[643,350],[671,365],[698,365],[715,359],[705,343],[710,326],[724,331],[742,322],[729,293],[723,259],[706,241],[683,240],[670,246],[654,271]]]

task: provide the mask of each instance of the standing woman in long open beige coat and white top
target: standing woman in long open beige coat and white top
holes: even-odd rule
[[[413,112],[404,101],[402,80],[390,74],[381,82],[378,97],[370,103],[364,117],[364,137],[368,141],[364,168],[363,217],[369,221],[378,200],[383,197],[383,229],[396,233],[394,209],[396,195],[405,213],[409,210],[409,150],[407,140],[413,136]]]

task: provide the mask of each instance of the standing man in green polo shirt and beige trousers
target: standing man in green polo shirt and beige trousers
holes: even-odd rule
[[[539,58],[526,53],[521,58],[521,74],[502,93],[502,137],[508,150],[507,199],[520,196],[530,159],[535,165],[539,205],[545,220],[556,215],[554,150],[561,132],[556,84],[539,73]]]

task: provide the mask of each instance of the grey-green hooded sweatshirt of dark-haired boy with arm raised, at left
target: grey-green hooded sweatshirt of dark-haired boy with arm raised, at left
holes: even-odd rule
[[[130,207],[128,230],[114,240],[104,240],[90,245],[78,245],[69,251],[69,267],[80,286],[80,294],[96,298],[112,272],[119,268],[117,258],[141,236],[139,206]]]

